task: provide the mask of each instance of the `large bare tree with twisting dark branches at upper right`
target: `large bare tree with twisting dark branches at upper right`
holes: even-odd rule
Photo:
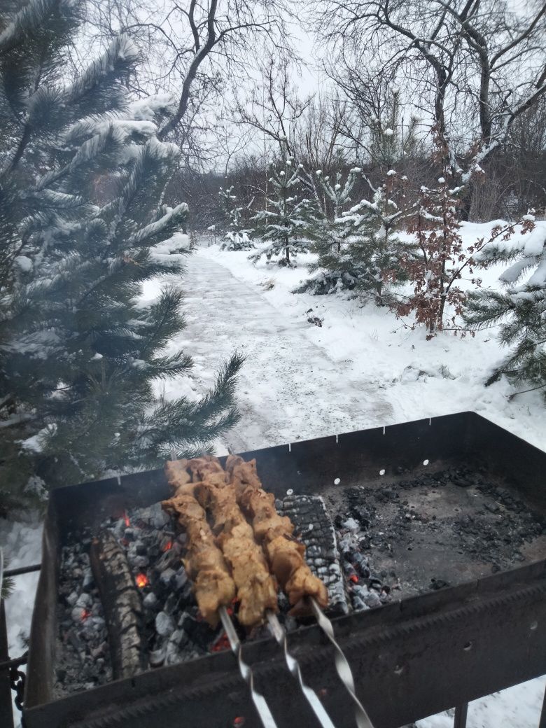
[[[546,92],[546,4],[516,13],[502,0],[326,0],[314,13],[342,49],[336,63],[351,52],[361,61],[365,47],[378,76],[403,74],[463,185]]]

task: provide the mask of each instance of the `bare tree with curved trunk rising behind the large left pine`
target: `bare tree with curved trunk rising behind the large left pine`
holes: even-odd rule
[[[288,42],[285,0],[90,0],[74,66],[90,44],[106,44],[120,31],[141,50],[137,74],[127,79],[136,95],[170,94],[170,114],[159,138],[171,138],[187,155],[210,158],[211,135],[223,95],[234,79],[246,82],[258,47],[282,54]]]

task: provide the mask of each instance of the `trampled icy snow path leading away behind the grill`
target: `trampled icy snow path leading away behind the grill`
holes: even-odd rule
[[[187,328],[197,370],[213,371],[235,350],[246,357],[237,387],[242,419],[234,451],[333,435],[392,421],[392,406],[352,363],[334,361],[306,338],[306,320],[280,315],[261,289],[199,251],[184,278]],[[203,384],[210,381],[202,379]]]

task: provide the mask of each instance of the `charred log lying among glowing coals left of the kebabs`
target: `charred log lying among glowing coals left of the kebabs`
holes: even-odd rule
[[[142,644],[142,601],[127,557],[111,534],[91,543],[91,568],[103,601],[114,680],[148,668]]]

